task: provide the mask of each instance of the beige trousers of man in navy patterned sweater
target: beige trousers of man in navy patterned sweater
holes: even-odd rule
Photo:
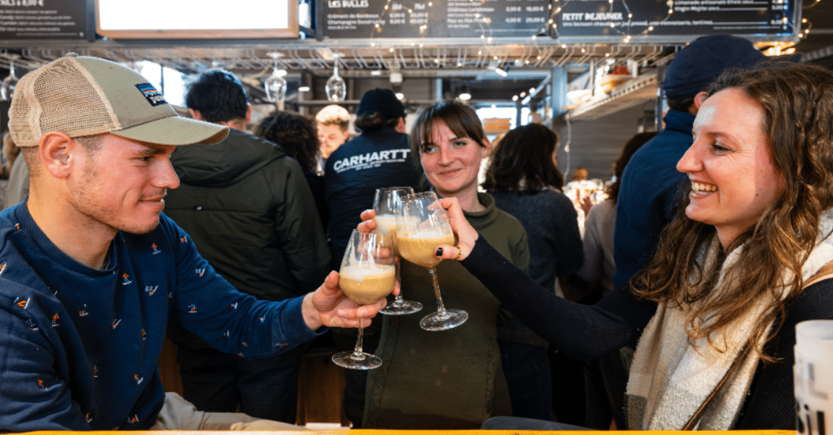
[[[261,420],[244,413],[206,413],[197,411],[177,393],[165,393],[165,404],[152,431],[306,431],[294,424]]]

